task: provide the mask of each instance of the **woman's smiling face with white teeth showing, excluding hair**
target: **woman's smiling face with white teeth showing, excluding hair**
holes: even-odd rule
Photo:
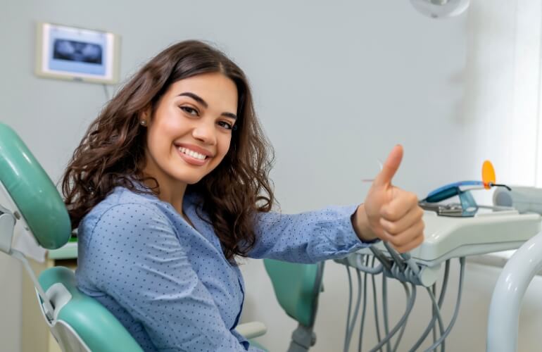
[[[146,118],[144,172],[160,186],[201,180],[222,161],[237,119],[237,87],[221,73],[206,73],[170,85]]]

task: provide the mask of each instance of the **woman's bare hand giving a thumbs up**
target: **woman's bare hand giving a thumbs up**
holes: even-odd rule
[[[424,240],[424,212],[415,194],[391,184],[401,159],[403,147],[397,145],[372,182],[365,203],[352,215],[352,224],[362,241],[379,238],[404,253]]]

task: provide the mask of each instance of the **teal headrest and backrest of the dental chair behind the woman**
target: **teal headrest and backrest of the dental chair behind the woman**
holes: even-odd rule
[[[26,222],[40,246],[58,249],[68,242],[70,218],[61,195],[24,142],[3,123],[0,185],[17,208],[15,218]],[[0,239],[11,235],[0,233]],[[77,289],[73,271],[62,267],[45,270],[39,286],[52,303],[53,317],[46,317],[44,297],[38,294],[39,306],[63,351],[142,351],[113,314]]]

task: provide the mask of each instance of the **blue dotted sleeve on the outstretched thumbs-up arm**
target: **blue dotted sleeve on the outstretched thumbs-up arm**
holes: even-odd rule
[[[258,213],[256,246],[251,258],[272,258],[294,263],[316,263],[342,258],[369,246],[360,241],[351,216],[357,206],[332,206],[294,215]]]

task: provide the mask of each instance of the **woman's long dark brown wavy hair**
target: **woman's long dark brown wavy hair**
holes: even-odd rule
[[[62,190],[73,229],[115,187],[141,192],[146,128],[145,111],[155,111],[171,84],[203,73],[222,73],[237,86],[237,130],[225,158],[208,175],[187,187],[201,200],[198,215],[213,225],[227,260],[246,256],[256,243],[257,212],[271,210],[269,180],[273,150],[256,118],[251,89],[243,71],[225,54],[203,42],[174,44],[146,63],[127,81],[84,134],[65,170]],[[152,118],[152,116],[151,116]],[[150,177],[153,179],[153,177]],[[149,189],[159,194],[159,184]]]

